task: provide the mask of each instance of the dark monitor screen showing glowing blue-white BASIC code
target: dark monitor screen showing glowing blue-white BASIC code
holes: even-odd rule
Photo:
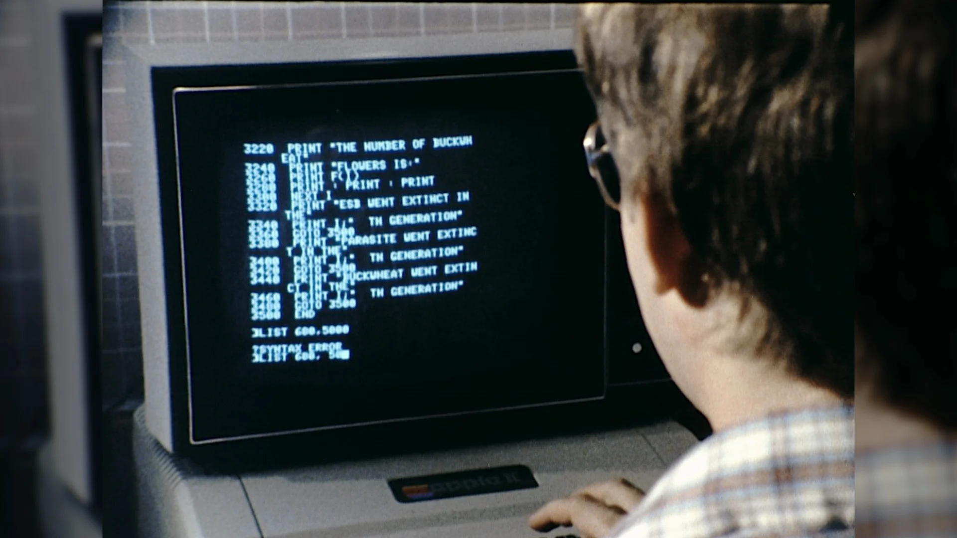
[[[154,94],[193,444],[604,395],[581,74],[404,61]]]

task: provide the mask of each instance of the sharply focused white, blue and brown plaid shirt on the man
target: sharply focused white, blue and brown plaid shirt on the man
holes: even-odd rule
[[[615,538],[854,536],[854,408],[770,415],[705,439]]]

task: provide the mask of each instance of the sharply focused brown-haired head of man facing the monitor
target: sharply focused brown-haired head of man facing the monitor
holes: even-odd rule
[[[853,395],[844,26],[827,6],[581,11],[576,55],[619,171],[638,302],[692,401],[710,359],[692,341]]]

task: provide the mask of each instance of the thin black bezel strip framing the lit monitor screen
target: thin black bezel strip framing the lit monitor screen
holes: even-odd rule
[[[156,114],[157,159],[161,190],[161,211],[164,227],[163,242],[166,267],[167,330],[169,338],[170,380],[173,403],[181,401],[185,394],[186,409],[176,410],[174,417],[181,416],[189,425],[189,446],[203,446],[236,442],[257,438],[282,437],[319,433],[329,430],[367,427],[387,422],[410,422],[482,413],[501,413],[522,408],[550,407],[587,401],[601,400],[605,393],[595,397],[574,400],[557,400],[516,407],[495,407],[479,411],[447,414],[420,415],[386,420],[374,420],[353,424],[317,426],[290,431],[264,434],[249,434],[213,439],[196,439],[192,410],[192,382],[190,377],[189,322],[186,302],[186,271],[182,230],[182,207],[179,198],[179,169],[177,162],[176,114],[174,96],[179,92],[195,91],[196,88],[250,88],[276,86],[302,86],[314,84],[349,84],[374,81],[395,81],[411,78],[473,78],[517,74],[578,72],[570,51],[544,51],[504,55],[472,55],[427,58],[403,58],[391,60],[344,60],[337,62],[257,64],[242,66],[164,67],[152,71],[153,104]],[[361,78],[354,74],[361,73]],[[214,81],[213,84],[210,82]],[[171,121],[170,121],[171,120]],[[175,181],[173,181],[175,179]],[[587,179],[587,178],[586,178]],[[175,225],[175,229],[174,229]],[[607,235],[607,230],[605,231]],[[604,273],[604,271],[603,271]],[[607,314],[605,298],[602,298],[603,313]],[[605,320],[603,319],[603,326]],[[607,340],[603,335],[601,349],[605,387],[608,385]],[[174,418],[175,419],[175,418]],[[182,422],[182,420],[177,420]]]

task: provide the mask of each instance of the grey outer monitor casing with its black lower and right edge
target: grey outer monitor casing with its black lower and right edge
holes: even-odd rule
[[[176,271],[165,263],[162,237],[167,221],[161,218],[161,193],[157,189],[159,161],[157,141],[164,128],[156,123],[153,109],[153,72],[155,68],[294,65],[329,61],[382,61],[404,58],[449,56],[489,56],[532,52],[565,52],[571,57],[573,31],[570,29],[500,32],[494,34],[454,34],[408,37],[369,37],[328,39],[322,42],[231,42],[123,45],[126,67],[126,101],[130,110],[132,147],[130,159],[134,180],[137,215],[136,242],[140,287],[141,325],[145,383],[145,420],[150,434],[168,452],[189,456],[192,460],[222,470],[275,468],[318,460],[355,460],[377,454],[400,454],[440,450],[443,446],[479,445],[497,440],[551,437],[562,432],[601,431],[634,424],[646,424],[669,415],[670,409],[686,402],[663,369],[650,336],[643,328],[634,299],[631,281],[623,267],[611,271],[609,262],[623,263],[617,214],[606,211],[606,297],[615,297],[612,311],[605,312],[605,356],[615,365],[634,364],[622,370],[606,367],[607,397],[597,402],[557,405],[504,414],[479,414],[436,418],[389,425],[323,432],[317,435],[280,436],[265,439],[194,446],[180,419],[185,411],[182,387],[173,384],[176,372],[185,361],[170,346],[168,326],[175,320],[168,312],[182,312],[182,297],[167,297],[166,283]],[[322,46],[320,46],[322,45]],[[220,83],[223,81],[220,80]],[[612,231],[615,229],[615,231]],[[168,273],[168,274],[167,274]],[[619,274],[625,273],[625,274]],[[611,281],[613,280],[613,281]],[[608,316],[621,318],[626,324]],[[627,318],[627,319],[626,319]],[[621,325],[621,326],[619,326]],[[634,325],[634,326],[632,326]],[[611,339],[611,340],[610,340]],[[633,346],[640,344],[640,354]],[[617,373],[616,373],[617,372]],[[502,417],[505,419],[502,420]],[[442,432],[442,434],[436,434]],[[322,437],[322,438],[321,438]],[[401,438],[401,443],[383,443],[383,439]],[[337,450],[349,445],[360,450]],[[269,453],[271,456],[263,456]],[[281,454],[281,462],[278,456]]]

